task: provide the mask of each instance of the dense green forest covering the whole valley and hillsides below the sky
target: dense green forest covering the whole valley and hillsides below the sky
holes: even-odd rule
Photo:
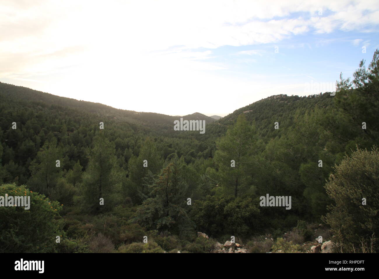
[[[184,117],[204,134],[0,83],[0,196],[31,197],[30,210],[0,207],[0,251],[210,252],[234,236],[249,252],[305,252],[322,235],[335,252],[375,252],[377,115],[378,50],[335,95]],[[267,194],[290,210],[261,206]]]

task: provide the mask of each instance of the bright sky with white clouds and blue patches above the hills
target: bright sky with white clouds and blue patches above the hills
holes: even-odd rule
[[[0,82],[118,109],[225,116],[335,91],[379,48],[379,1],[0,2]]]

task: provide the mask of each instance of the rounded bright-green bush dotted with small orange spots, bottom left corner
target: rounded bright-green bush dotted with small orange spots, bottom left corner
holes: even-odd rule
[[[30,209],[21,206],[0,206],[0,252],[56,252],[55,237],[64,238],[58,225],[62,206],[26,186],[3,184],[0,196],[30,196]]]

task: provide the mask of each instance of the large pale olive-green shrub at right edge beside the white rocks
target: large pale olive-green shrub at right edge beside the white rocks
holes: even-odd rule
[[[364,243],[371,243],[372,235],[379,235],[378,148],[358,149],[350,157],[346,156],[335,167],[325,188],[335,205],[328,206],[330,212],[323,220],[342,244],[342,252],[362,251],[359,248],[362,238]],[[367,205],[362,204],[363,198],[367,199]],[[373,251],[377,248],[378,244],[373,243]]]

